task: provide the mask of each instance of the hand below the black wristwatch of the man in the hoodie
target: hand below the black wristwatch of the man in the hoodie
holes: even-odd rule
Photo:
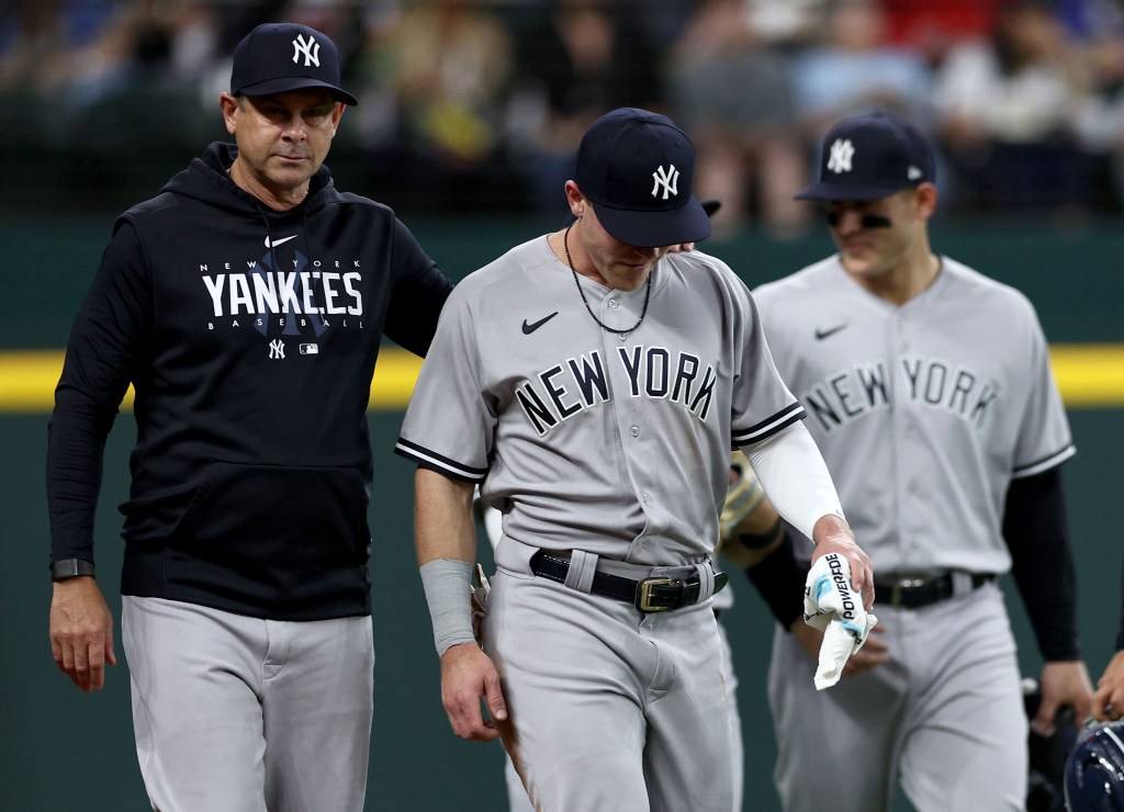
[[[106,684],[106,664],[117,665],[114,615],[98,582],[82,575],[57,581],[51,597],[51,655],[85,693]]]

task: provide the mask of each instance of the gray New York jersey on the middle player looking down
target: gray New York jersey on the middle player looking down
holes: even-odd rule
[[[719,259],[669,254],[624,340],[586,312],[545,237],[454,290],[398,453],[480,485],[504,532],[640,564],[714,550],[732,445],[801,419],[744,283]],[[579,277],[598,318],[634,325],[646,291]]]

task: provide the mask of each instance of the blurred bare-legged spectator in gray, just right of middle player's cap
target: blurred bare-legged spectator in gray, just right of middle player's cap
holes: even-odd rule
[[[791,61],[764,40],[744,0],[706,0],[671,51],[672,117],[698,153],[695,188],[723,202],[716,236],[751,216],[779,237],[795,236],[809,209],[794,200],[807,185],[807,159],[792,106]],[[761,8],[756,9],[758,11]],[[788,36],[792,29],[785,29]]]

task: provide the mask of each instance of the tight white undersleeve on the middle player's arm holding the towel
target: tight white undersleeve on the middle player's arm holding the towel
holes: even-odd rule
[[[843,516],[832,475],[803,422],[742,450],[777,512],[809,539],[821,517]]]

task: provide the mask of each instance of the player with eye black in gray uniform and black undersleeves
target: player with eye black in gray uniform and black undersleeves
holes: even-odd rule
[[[878,572],[879,626],[831,691],[800,677],[815,632],[776,636],[787,810],[885,810],[899,781],[922,812],[1023,809],[1027,720],[995,583],[1009,569],[1045,660],[1035,723],[1089,709],[1059,474],[1073,446],[1049,348],[1025,296],[931,250],[934,180],[914,126],[839,122],[798,195],[824,202],[839,253],[754,291]]]

